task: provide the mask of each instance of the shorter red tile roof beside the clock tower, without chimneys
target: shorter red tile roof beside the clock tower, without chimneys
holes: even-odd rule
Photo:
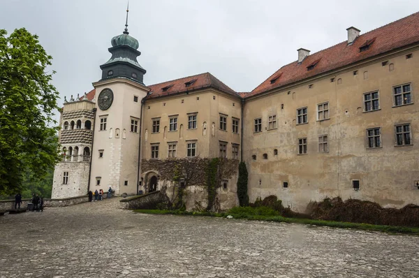
[[[188,87],[186,87],[186,83],[190,83]],[[230,89],[230,87],[215,78],[211,73],[201,73],[198,75],[179,78],[177,80],[170,80],[147,87],[151,89],[150,92],[152,93],[147,98],[170,96],[172,94],[191,92],[193,90],[203,88],[214,88],[226,94],[240,97],[236,92],[233,91],[233,89]],[[165,90],[163,91],[163,89]]]

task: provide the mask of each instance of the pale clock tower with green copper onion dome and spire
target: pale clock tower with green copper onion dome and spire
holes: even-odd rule
[[[91,153],[89,190],[109,187],[117,195],[137,193],[141,100],[149,88],[145,69],[137,57],[138,41],[128,33],[128,8],[124,32],[111,40],[112,57],[101,65],[96,89],[96,121]]]

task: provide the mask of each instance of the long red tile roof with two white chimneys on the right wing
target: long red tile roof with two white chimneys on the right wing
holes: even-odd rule
[[[418,42],[419,13],[414,13],[401,20],[358,36],[352,45],[348,45],[347,41],[344,41],[307,56],[300,65],[297,64],[297,61],[294,61],[291,64],[283,66],[245,97],[255,96],[271,89],[284,87],[293,82],[311,78],[320,73],[332,71],[342,66]],[[369,49],[360,52],[360,47],[368,44]],[[297,53],[295,53],[295,56],[297,56]],[[310,71],[307,71],[307,67],[316,61],[318,61],[316,66]],[[279,76],[278,80],[271,83],[271,80],[277,76]]]

